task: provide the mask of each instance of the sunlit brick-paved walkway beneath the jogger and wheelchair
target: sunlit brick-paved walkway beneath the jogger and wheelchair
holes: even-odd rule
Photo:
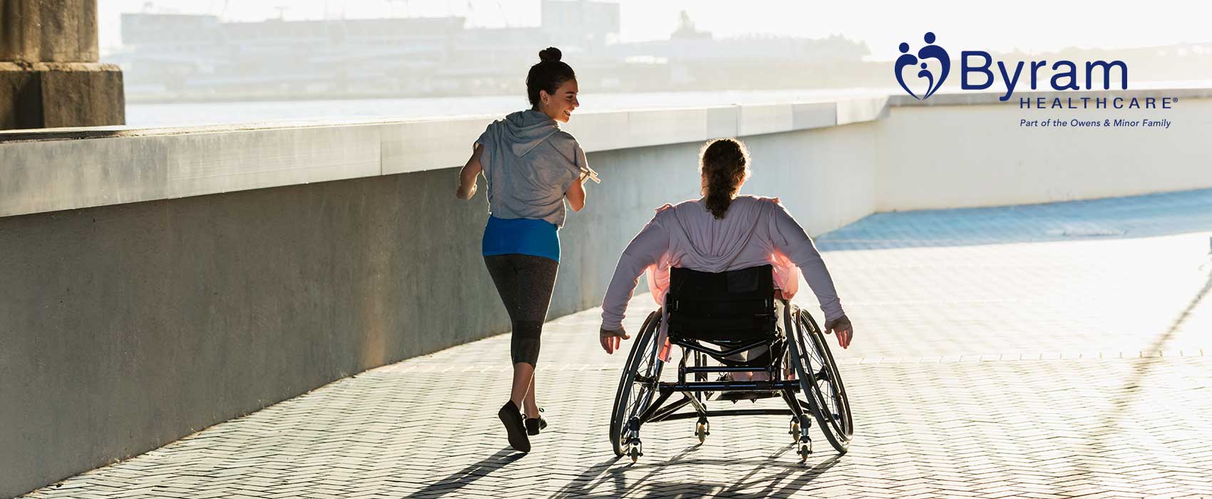
[[[1212,190],[877,214],[822,237],[857,328],[834,345],[857,426],[840,459],[814,432],[800,465],[785,419],[753,417],[713,420],[704,444],[691,420],[653,424],[638,464],[616,460],[624,359],[590,310],[544,332],[551,426],[527,455],[496,419],[494,337],[30,497],[1212,497],[1210,235]],[[638,297],[629,331],[652,308]]]

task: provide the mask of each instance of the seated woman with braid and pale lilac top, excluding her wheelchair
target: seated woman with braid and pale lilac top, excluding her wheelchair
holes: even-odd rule
[[[623,329],[627,303],[640,274],[650,268],[657,279],[650,279],[648,286],[663,292],[659,281],[668,285],[670,266],[721,273],[770,264],[781,300],[789,300],[799,286],[799,274],[788,260],[805,273],[821,302],[825,331],[836,333],[841,348],[848,348],[853,329],[812,239],[778,197],[737,195],[749,179],[745,145],[730,138],[709,142],[699,154],[699,171],[703,199],[657,208],[619,257],[602,300],[602,349],[612,354],[623,339],[630,338]]]

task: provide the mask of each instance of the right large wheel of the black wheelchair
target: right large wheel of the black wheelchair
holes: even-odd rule
[[[825,438],[837,453],[845,454],[854,434],[854,420],[837,363],[811,314],[796,308],[791,319],[795,321],[795,331],[790,332],[788,356],[800,379],[800,389]]]

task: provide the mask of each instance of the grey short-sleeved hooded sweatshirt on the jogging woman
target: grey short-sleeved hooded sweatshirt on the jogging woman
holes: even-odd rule
[[[564,226],[564,193],[583,171],[585,151],[548,115],[528,109],[493,121],[475,140],[488,180],[488,212]]]

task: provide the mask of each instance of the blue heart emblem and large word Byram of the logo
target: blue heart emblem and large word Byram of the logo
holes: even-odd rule
[[[897,58],[896,67],[893,68],[901,88],[904,88],[907,93],[919,101],[928,99],[930,96],[933,96],[943,86],[943,81],[947,81],[947,75],[951,69],[951,58],[948,56],[947,50],[934,44],[934,34],[926,33],[922,40],[926,41],[926,46],[919,48],[916,55],[910,52],[909,44],[902,42],[898,47],[901,57]],[[937,73],[926,63],[928,59],[937,61]],[[1005,84],[1006,93],[999,97],[999,101],[1010,99],[1010,96],[1014,93],[1014,88],[1021,82],[1027,84],[1029,81],[1030,88],[1035,90],[1041,79],[1048,79],[1048,73],[1051,73],[1051,79],[1047,81],[1051,84],[1052,90],[1082,88],[1082,85],[1080,85],[1082,73],[1073,61],[1056,61],[1051,65],[1047,61],[1018,61],[1007,68],[1002,61],[997,61],[994,64],[993,56],[989,52],[977,50],[960,52],[959,62],[961,90],[985,90],[993,86],[999,80],[999,76],[1001,76],[1000,79]],[[909,69],[905,70],[905,68]],[[1042,68],[1050,68],[1051,71],[1045,69],[1041,74],[1040,69]],[[917,80],[909,79],[909,82],[907,82],[905,74],[914,69],[917,69]],[[1120,90],[1128,88],[1128,65],[1122,61],[1087,61],[1085,63],[1085,90],[1091,90],[1091,84],[1099,79],[1099,75],[1103,90],[1110,90],[1111,81],[1116,80],[1120,84]],[[921,90],[922,86],[926,88],[920,96],[914,92],[914,88]]]

